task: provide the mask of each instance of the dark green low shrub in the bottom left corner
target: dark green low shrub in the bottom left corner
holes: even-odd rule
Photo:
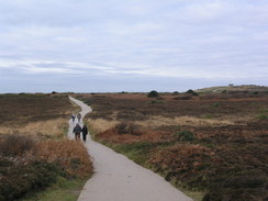
[[[55,164],[46,161],[10,165],[0,167],[0,201],[12,201],[34,189],[48,187],[60,172]]]

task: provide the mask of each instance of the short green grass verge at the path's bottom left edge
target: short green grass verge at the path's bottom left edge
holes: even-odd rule
[[[30,193],[20,201],[76,201],[89,177],[66,179],[59,177],[57,182],[44,191]]]

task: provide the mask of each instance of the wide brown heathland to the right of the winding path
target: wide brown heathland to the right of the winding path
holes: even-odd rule
[[[77,94],[94,138],[203,201],[268,199],[267,88]],[[197,198],[201,200],[201,198]]]

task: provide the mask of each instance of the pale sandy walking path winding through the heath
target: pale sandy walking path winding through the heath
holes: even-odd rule
[[[81,107],[82,118],[91,109],[70,97]],[[75,123],[69,121],[68,136],[74,138]],[[87,181],[78,201],[192,201],[157,174],[133,163],[88,138],[85,146],[93,159],[94,175]]]

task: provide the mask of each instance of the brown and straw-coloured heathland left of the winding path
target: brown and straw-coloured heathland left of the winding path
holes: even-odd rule
[[[66,139],[79,109],[58,94],[1,94],[0,105],[0,201],[76,200],[92,174],[83,146]]]

